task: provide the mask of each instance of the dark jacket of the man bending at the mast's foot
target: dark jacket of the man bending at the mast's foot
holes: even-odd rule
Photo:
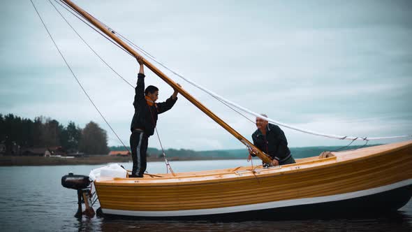
[[[290,154],[285,133],[277,125],[267,124],[266,136],[257,129],[252,134],[252,139],[253,145],[278,161]]]

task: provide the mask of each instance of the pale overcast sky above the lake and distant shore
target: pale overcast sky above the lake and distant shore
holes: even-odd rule
[[[134,89],[84,45],[48,1],[34,3],[80,82],[128,145]],[[75,3],[187,78],[279,122],[345,136],[412,134],[411,1]],[[135,85],[137,62],[58,8]],[[81,127],[94,121],[108,131],[109,145],[120,145],[75,82],[31,2],[1,1],[0,25],[0,113],[44,115]],[[145,71],[146,85],[156,85],[159,100],[167,99],[172,89]],[[170,78],[251,139],[253,123],[184,80]],[[283,129],[290,147],[348,143]],[[244,147],[183,97],[160,115],[158,130],[165,148]],[[149,147],[160,147],[156,136]]]

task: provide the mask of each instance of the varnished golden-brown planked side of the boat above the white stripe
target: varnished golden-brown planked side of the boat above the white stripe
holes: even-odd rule
[[[229,177],[220,174],[219,178],[207,181],[184,181],[177,177],[170,179],[175,182],[150,182],[154,178],[147,178],[146,182],[120,179],[119,183],[113,180],[95,184],[102,208],[130,211],[203,210],[334,196],[411,180],[410,144],[381,153],[369,154],[367,150],[365,154],[369,155],[364,157],[351,157],[353,154],[344,152],[345,159],[340,161],[334,158],[330,162],[333,158],[327,158],[325,164],[319,162],[318,166],[301,165],[288,171],[273,169],[256,176],[228,173]]]

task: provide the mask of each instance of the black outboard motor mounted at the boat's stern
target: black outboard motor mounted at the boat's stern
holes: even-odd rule
[[[73,175],[68,173],[61,177],[61,185],[68,189],[75,189],[78,191],[78,212],[75,217],[82,217],[82,214],[89,217],[94,217],[96,213],[91,207],[91,180],[87,175]],[[82,212],[82,203],[84,203],[86,210]]]

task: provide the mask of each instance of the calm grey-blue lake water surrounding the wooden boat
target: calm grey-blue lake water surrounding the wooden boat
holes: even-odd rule
[[[250,165],[246,160],[175,161],[170,164],[175,172]],[[132,166],[131,163],[122,165],[127,169]],[[78,207],[76,191],[61,187],[61,176],[69,171],[88,175],[91,169],[101,166],[0,167],[0,231],[412,231],[412,201],[391,215],[355,219],[272,222],[76,219],[73,217]],[[165,165],[151,162],[147,170],[165,173]],[[94,208],[98,208],[98,203]]]

